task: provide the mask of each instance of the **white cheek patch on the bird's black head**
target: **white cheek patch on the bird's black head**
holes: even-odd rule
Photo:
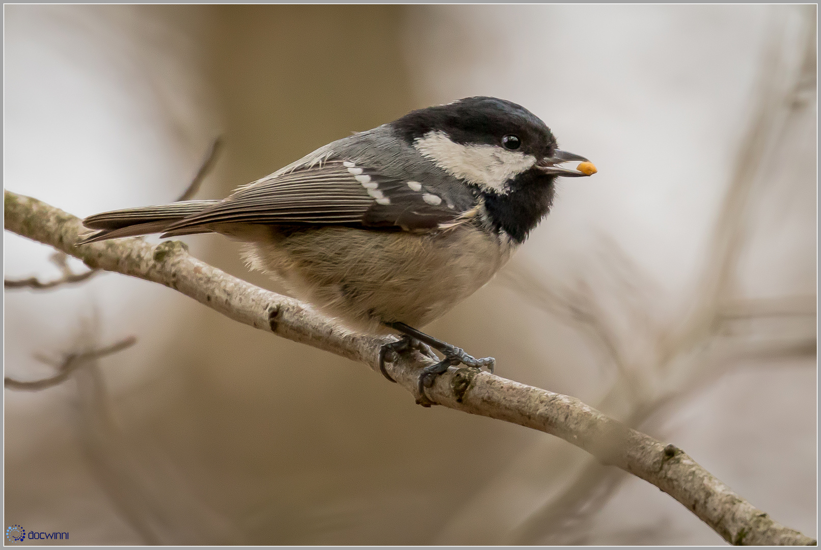
[[[442,131],[416,138],[414,147],[451,176],[502,194],[510,190],[507,181],[536,163],[532,154],[507,151],[496,145],[454,143]]]

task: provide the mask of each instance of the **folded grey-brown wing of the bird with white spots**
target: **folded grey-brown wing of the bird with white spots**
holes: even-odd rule
[[[190,227],[236,222],[420,231],[452,222],[461,213],[424,182],[401,181],[340,159],[277,172],[241,187],[218,204],[172,223],[166,235]]]

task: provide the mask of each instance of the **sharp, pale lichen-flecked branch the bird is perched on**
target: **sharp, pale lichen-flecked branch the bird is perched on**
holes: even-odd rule
[[[179,241],[149,245],[135,238],[76,246],[85,232],[80,219],[37,199],[5,191],[5,228],[101,268],[158,282],[227,317],[309,344],[378,369],[384,339],[346,332],[309,306],[266,291],[191,257]],[[420,368],[416,354],[398,357],[392,378],[415,395]],[[439,405],[501,419],[556,435],[669,493],[730,543],[815,544],[771,520],[732,492],[684,451],[603,415],[575,397],[516,383],[477,369],[450,369],[429,388]],[[419,396],[417,396],[417,400]]]

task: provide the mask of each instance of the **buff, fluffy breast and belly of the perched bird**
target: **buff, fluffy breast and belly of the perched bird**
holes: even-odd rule
[[[354,227],[272,230],[246,259],[293,295],[360,332],[388,332],[383,321],[423,327],[479,290],[516,244],[463,224],[443,231]]]

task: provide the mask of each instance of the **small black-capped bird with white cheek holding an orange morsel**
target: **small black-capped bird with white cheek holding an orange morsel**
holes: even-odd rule
[[[596,171],[526,108],[477,96],[333,141],[222,200],[94,214],[78,244],[151,233],[241,241],[249,268],[344,328],[401,335],[379,351],[388,380],[393,354],[435,358],[418,378],[429,403],[424,388],[450,366],[493,372],[495,360],[419,328],[498,273],[548,215],[557,177]]]

